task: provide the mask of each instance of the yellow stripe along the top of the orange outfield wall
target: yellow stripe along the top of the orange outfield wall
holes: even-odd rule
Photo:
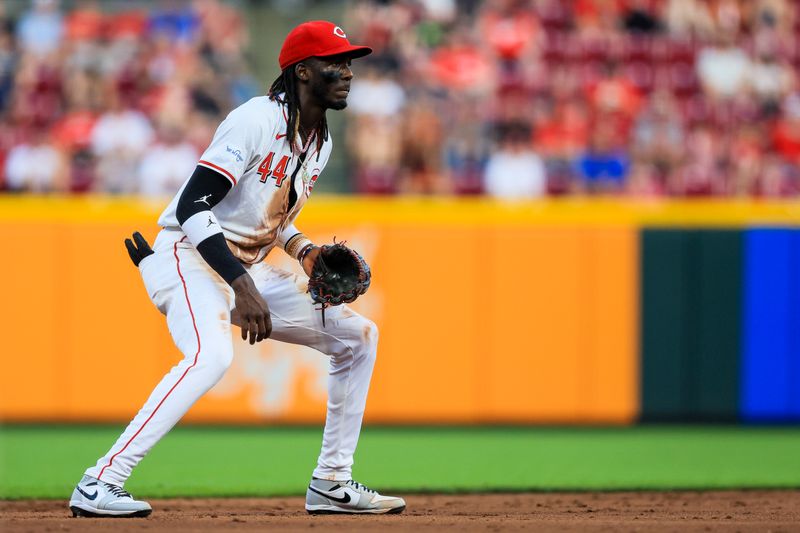
[[[168,198],[0,196],[0,220],[155,223]],[[796,225],[800,201],[555,198],[518,203],[476,198],[318,196],[300,217],[314,223]]]

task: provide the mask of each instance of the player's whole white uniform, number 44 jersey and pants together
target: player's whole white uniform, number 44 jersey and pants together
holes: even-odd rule
[[[317,161],[311,146],[304,165],[286,139],[282,106],[254,98],[233,110],[220,125],[199,164],[231,181],[214,206],[233,253],[247,263],[261,261],[275,246],[308,198],[331,152],[326,141]],[[313,144],[313,142],[312,142]],[[187,180],[188,181],[188,180]],[[295,195],[290,194],[294,182]],[[156,386],[136,417],[108,452],[86,474],[118,486],[231,365],[230,312],[233,289],[212,269],[178,225],[178,198],[162,213],[165,226],[154,253],[139,263],[153,304],[167,317],[167,327],[184,358]],[[209,198],[192,201],[203,203]],[[286,235],[284,235],[284,238]],[[313,347],[329,355],[328,412],[322,448],[313,476],[352,479],[353,454],[361,432],[367,391],[378,350],[378,329],[346,305],[326,311],[328,322],[308,294],[308,278],[258,262],[246,267],[256,290],[269,303],[271,339]]]

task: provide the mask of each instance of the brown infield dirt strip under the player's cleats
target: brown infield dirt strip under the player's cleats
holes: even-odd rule
[[[63,501],[0,502],[6,531],[800,531],[800,490],[408,496],[393,516],[309,516],[301,498],[153,500],[149,518],[72,518]]]

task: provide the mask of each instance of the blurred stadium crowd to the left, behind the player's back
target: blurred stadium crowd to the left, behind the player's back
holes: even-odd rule
[[[70,4],[0,2],[0,190],[174,194],[228,111],[261,92],[241,13]]]

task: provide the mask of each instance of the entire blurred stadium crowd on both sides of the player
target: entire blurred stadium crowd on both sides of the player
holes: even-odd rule
[[[347,6],[375,50],[346,113],[357,192],[800,192],[800,0]],[[246,4],[68,7],[0,3],[0,190],[173,194],[266,90]]]

